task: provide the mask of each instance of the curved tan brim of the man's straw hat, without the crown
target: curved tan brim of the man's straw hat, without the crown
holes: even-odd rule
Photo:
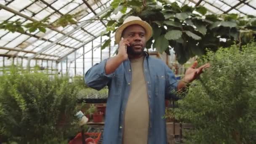
[[[145,21],[133,20],[133,21],[129,21],[129,22],[125,23],[125,24],[122,24],[117,29],[117,31],[115,32],[115,42],[116,43],[120,42],[123,30],[126,27],[131,26],[133,24],[139,24],[139,25],[141,25],[141,27],[143,27],[145,29],[145,31],[146,31],[146,34],[145,34],[146,42],[150,39],[150,37],[152,36],[152,27],[147,22],[145,22]]]

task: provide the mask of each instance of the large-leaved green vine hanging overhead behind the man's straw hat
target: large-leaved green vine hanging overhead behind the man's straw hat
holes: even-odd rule
[[[206,48],[216,51],[234,43],[244,45],[256,35],[255,16],[207,14],[205,7],[180,7],[167,0],[114,0],[111,5],[112,9],[101,19],[119,11],[124,14],[120,19],[108,21],[104,35],[114,33],[126,17],[139,16],[153,28],[153,36],[146,48],[170,53],[168,47],[171,46],[181,64],[195,55],[202,56]],[[106,40],[102,49],[110,42],[110,39]]]

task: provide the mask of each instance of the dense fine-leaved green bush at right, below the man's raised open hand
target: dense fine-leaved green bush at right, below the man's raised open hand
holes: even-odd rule
[[[189,87],[174,110],[176,119],[189,122],[193,144],[256,143],[256,43],[208,52],[206,70]]]

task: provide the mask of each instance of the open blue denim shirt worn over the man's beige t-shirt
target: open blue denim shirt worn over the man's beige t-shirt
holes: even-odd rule
[[[85,74],[85,83],[96,90],[109,88],[106,117],[103,132],[103,144],[122,144],[125,108],[131,90],[132,69],[129,60],[112,74],[106,75],[107,59],[95,64]],[[165,99],[176,90],[178,82],[170,68],[160,59],[146,53],[143,63],[144,77],[149,100],[148,144],[167,144]],[[136,123],[136,122],[134,122]]]

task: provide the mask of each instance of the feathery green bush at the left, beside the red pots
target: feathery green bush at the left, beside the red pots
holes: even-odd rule
[[[67,77],[12,68],[0,83],[0,136],[19,144],[61,143],[75,120],[77,89]],[[67,139],[64,143],[67,143]]]

